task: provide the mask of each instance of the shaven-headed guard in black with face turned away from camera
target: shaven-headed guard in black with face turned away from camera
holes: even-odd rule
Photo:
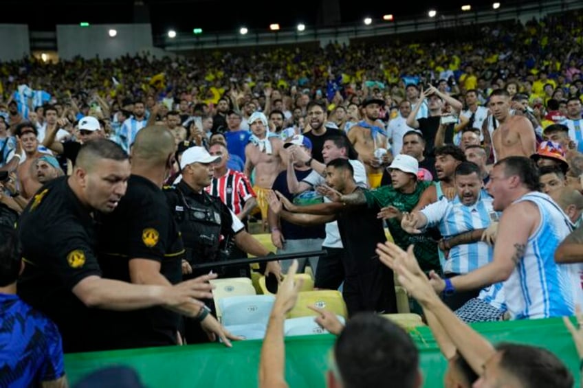
[[[182,280],[181,258],[184,247],[166,196],[164,180],[175,157],[175,140],[164,126],[142,128],[131,148],[131,176],[126,195],[114,212],[100,218],[98,261],[104,277],[136,284],[170,286]],[[198,279],[208,282],[216,275]],[[202,284],[210,288],[209,284]],[[208,293],[207,297],[212,297]],[[153,307],[134,312],[106,312],[109,328],[108,347],[133,348],[176,345],[179,314],[195,317],[201,326],[229,344],[231,336],[221,324],[199,306],[179,306],[168,310]],[[105,340],[104,340],[105,341]]]

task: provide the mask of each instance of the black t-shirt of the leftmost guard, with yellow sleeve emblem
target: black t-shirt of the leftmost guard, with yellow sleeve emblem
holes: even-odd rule
[[[91,309],[73,293],[78,282],[100,276],[94,220],[67,183],[54,179],[37,192],[19,220],[25,269],[20,297],[58,326],[65,352],[96,349]]]

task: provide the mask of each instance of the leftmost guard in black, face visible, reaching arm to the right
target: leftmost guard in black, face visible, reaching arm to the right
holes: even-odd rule
[[[187,286],[145,286],[101,277],[96,259],[92,213],[110,213],[126,192],[129,160],[113,141],[88,141],[79,151],[72,176],[43,186],[19,221],[25,269],[18,292],[52,319],[65,352],[100,349],[94,309],[135,310],[151,306],[201,306],[197,280]],[[114,326],[115,322],[111,322]]]

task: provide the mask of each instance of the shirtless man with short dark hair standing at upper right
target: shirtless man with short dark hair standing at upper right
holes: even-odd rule
[[[493,91],[489,109],[500,123],[492,134],[495,161],[511,156],[530,157],[536,153],[532,124],[524,116],[510,115],[510,96],[507,91]]]

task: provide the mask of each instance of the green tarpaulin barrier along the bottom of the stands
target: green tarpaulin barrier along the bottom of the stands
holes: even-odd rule
[[[472,325],[490,341],[512,341],[546,347],[571,369],[579,386],[579,358],[571,334],[561,319],[476,323]],[[411,332],[421,354],[424,387],[442,387],[447,363],[428,328]],[[325,387],[327,355],[334,336],[287,338],[286,378],[292,388]],[[111,365],[126,365],[137,371],[142,382],[156,387],[257,387],[261,341],[239,341],[232,348],[221,344],[157,347],[67,354],[65,370],[74,384],[90,372]]]

